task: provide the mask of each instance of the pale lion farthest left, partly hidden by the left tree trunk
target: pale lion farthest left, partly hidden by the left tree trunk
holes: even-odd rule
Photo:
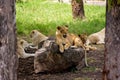
[[[25,52],[25,47],[28,47],[29,44],[27,41],[23,40],[23,39],[20,39],[20,40],[17,40],[17,55],[18,55],[18,58],[27,58],[27,57],[30,57],[30,56],[35,56],[35,54],[28,54]]]

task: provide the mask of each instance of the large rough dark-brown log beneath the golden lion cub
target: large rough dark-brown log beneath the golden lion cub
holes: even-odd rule
[[[82,48],[70,47],[61,53],[54,40],[46,40],[42,48],[35,52],[35,73],[59,72],[77,65],[84,66],[84,50]]]

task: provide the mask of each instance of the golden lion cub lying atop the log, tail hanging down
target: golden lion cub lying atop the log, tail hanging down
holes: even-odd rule
[[[82,47],[85,50],[85,46],[81,38],[75,34],[68,33],[68,26],[58,26],[56,30],[56,43],[59,45],[60,52],[64,52],[70,46]],[[87,55],[85,50],[85,64],[87,64]]]

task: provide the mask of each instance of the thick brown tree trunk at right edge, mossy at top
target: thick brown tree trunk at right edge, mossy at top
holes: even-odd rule
[[[120,80],[120,0],[107,0],[103,80]]]

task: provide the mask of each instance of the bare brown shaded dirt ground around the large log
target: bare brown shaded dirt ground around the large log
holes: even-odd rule
[[[88,53],[89,67],[62,73],[35,74],[33,57],[19,60],[18,80],[102,80],[104,46],[97,45],[98,50]],[[29,64],[27,64],[29,63]]]

